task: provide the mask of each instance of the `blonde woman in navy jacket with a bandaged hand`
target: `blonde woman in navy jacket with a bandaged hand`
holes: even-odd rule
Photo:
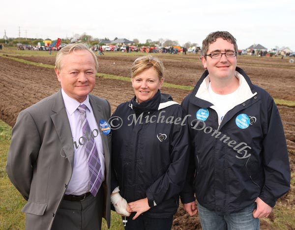
[[[188,125],[180,105],[160,92],[162,61],[140,57],[131,70],[135,96],[111,122],[111,199],[125,230],[170,230],[188,166]]]

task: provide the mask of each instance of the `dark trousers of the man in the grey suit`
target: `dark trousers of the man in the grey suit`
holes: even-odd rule
[[[101,230],[103,190],[84,201],[61,201],[51,230]]]

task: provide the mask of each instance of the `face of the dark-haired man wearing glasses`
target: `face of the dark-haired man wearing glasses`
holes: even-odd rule
[[[208,47],[208,54],[212,53],[226,53],[229,51],[235,52],[234,44],[217,38],[215,42]],[[236,72],[236,57],[227,58],[222,55],[221,58],[202,57],[202,62],[209,72],[209,77],[215,79],[231,79],[235,77]]]

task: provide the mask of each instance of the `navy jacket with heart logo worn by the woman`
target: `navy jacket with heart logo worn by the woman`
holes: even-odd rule
[[[112,130],[113,189],[118,185],[127,202],[147,197],[151,208],[144,215],[171,217],[177,212],[189,160],[181,106],[158,91],[141,104],[135,98],[120,104],[112,115],[117,116],[121,120],[111,122],[117,128]]]

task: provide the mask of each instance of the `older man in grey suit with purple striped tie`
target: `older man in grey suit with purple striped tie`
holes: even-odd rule
[[[110,226],[111,108],[89,94],[97,67],[87,46],[62,48],[61,89],[17,118],[6,171],[28,201],[27,230],[100,230],[102,217]]]

